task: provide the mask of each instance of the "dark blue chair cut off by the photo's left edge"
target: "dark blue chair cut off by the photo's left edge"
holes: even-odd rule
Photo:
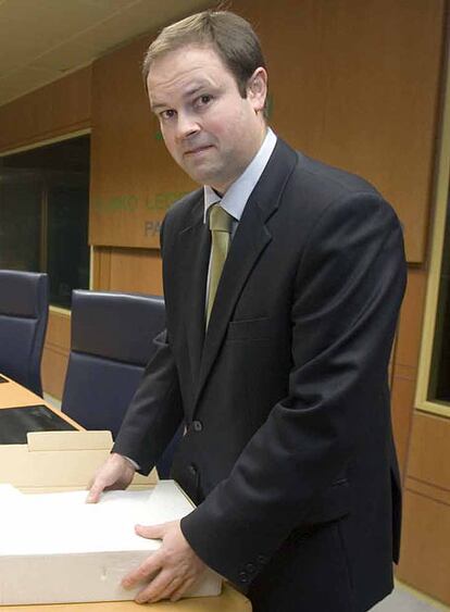
[[[0,270],[0,373],[39,396],[48,316],[47,274]]]

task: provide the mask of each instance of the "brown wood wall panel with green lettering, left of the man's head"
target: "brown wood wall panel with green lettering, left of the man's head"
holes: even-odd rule
[[[197,187],[167,153],[150,114],[140,76],[150,39],[93,64],[89,240],[96,246],[159,248],[168,205]]]

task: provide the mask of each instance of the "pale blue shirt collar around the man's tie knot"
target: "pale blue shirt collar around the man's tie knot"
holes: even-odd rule
[[[204,185],[204,216],[203,222],[207,223],[208,209],[213,204],[221,202],[221,205],[236,221],[240,221],[247,200],[250,198],[257,183],[259,182],[264,168],[275,149],[276,136],[272,129],[267,128],[264,141],[260,150],[252,161],[246,167],[243,173],[237,178],[221,198],[212,187]]]

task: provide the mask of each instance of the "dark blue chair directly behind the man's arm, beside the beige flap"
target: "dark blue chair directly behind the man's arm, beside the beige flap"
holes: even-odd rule
[[[113,437],[164,328],[164,300],[155,296],[75,290],[62,411],[86,429]],[[157,469],[168,477],[175,441]]]

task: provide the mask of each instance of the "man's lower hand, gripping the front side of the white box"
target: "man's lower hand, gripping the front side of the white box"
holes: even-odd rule
[[[201,576],[207,565],[193,552],[179,526],[179,521],[145,527],[136,525],[136,533],[143,538],[162,539],[161,548],[146,559],[122,580],[122,586],[133,588],[147,584],[136,596],[138,603],[160,599],[177,601]]]

